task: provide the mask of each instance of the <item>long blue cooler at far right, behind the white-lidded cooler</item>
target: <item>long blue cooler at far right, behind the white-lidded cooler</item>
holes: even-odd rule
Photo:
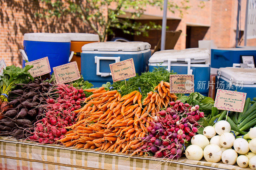
[[[243,63],[241,56],[253,56],[256,60],[255,48],[217,48],[211,50],[211,67],[232,67],[233,63]]]

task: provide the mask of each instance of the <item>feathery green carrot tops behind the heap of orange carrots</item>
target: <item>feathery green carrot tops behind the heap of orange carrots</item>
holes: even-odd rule
[[[160,81],[169,82],[171,74],[176,73],[166,70],[166,67],[155,67],[152,72],[144,72],[140,76],[136,74],[136,77],[129,78],[126,81],[126,85],[123,80],[117,81],[111,86],[113,87],[112,90],[120,90],[122,96],[135,90],[141,91],[142,99],[144,99],[147,93],[153,91]]]

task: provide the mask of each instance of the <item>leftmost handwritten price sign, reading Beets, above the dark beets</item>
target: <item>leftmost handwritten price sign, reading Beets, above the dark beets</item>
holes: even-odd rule
[[[34,67],[28,70],[32,77],[42,76],[44,74],[51,72],[50,63],[48,57],[40,58],[38,60],[34,60],[25,65],[33,65]]]

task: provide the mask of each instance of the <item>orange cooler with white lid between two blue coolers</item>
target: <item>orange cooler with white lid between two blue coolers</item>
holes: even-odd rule
[[[71,48],[70,51],[75,53],[82,53],[82,47],[84,44],[98,42],[99,35],[91,33],[62,33],[68,35],[71,39]],[[76,61],[79,71],[81,71],[81,55],[73,55],[73,58],[70,62]]]

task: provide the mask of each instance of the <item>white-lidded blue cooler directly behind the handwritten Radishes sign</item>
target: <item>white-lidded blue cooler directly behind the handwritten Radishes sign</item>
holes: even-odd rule
[[[149,59],[149,71],[154,67],[166,66],[177,74],[194,74],[195,92],[208,96],[210,82],[209,50],[188,48],[184,50],[163,50]]]

